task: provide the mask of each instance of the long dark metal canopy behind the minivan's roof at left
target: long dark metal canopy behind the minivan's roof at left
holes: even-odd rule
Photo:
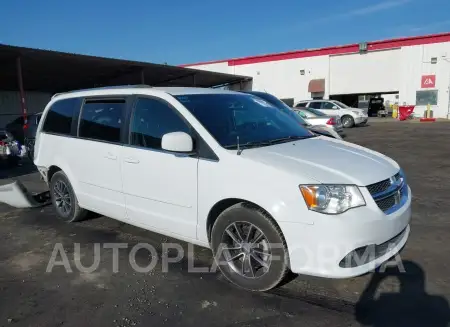
[[[0,90],[19,89],[17,58],[21,61],[26,91],[56,93],[129,84],[214,87],[251,80],[247,76],[192,68],[0,44]]]

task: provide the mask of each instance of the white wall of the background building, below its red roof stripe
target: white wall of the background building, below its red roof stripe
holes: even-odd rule
[[[437,58],[436,64],[430,62],[432,57]],[[448,118],[450,42],[406,46],[393,44],[390,49],[369,48],[366,54],[305,55],[256,63],[230,60],[192,68],[251,76],[253,90],[267,91],[279,98],[293,98],[294,101],[311,99],[309,81],[324,78],[324,98],[330,94],[398,92],[398,99],[392,95],[386,97],[391,102],[398,101],[400,105],[415,105],[416,91],[421,90],[422,75],[435,75],[438,103],[432,106],[434,117]],[[302,70],[303,75],[300,73]],[[425,109],[426,106],[417,106],[415,112],[422,115]]]

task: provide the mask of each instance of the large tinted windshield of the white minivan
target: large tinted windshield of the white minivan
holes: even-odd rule
[[[225,148],[266,146],[314,137],[286,113],[250,94],[178,95],[180,101]]]

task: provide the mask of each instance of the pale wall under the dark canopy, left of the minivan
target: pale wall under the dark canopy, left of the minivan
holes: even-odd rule
[[[44,110],[52,94],[43,92],[25,92],[28,113]],[[0,128],[22,115],[20,93],[14,91],[0,91]]]

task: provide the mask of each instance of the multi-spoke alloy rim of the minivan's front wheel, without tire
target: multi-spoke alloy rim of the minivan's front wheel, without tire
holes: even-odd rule
[[[246,278],[259,278],[270,268],[272,253],[264,233],[249,222],[234,222],[222,235],[221,252],[228,266]]]

